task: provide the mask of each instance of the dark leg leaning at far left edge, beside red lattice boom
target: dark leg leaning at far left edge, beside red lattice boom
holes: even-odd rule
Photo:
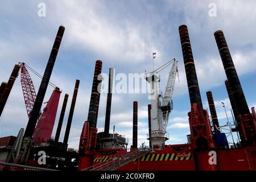
[[[14,68],[13,68],[13,72],[11,72],[9,81],[8,81],[7,85],[5,86],[5,90],[3,90],[2,97],[0,100],[0,117],[3,113],[3,109],[5,108],[6,102],[10,95],[10,92],[11,92],[11,89],[13,88],[16,77],[18,77],[18,75],[19,75],[19,69],[20,69],[20,65],[15,64]]]

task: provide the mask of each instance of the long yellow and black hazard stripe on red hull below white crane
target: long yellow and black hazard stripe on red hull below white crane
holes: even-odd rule
[[[191,153],[187,154],[146,154],[141,157],[141,161],[166,161],[166,160],[191,160]]]

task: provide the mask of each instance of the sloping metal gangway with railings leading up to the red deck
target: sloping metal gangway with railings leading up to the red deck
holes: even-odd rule
[[[135,159],[141,158],[141,156],[148,154],[150,151],[150,148],[136,148],[125,154],[117,155],[108,162],[94,164],[93,166],[82,169],[82,171],[114,171]]]

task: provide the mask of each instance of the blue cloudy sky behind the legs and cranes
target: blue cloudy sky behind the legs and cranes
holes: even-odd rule
[[[43,7],[45,11],[42,11]],[[225,71],[218,53],[214,32],[223,30],[232,54],[249,108],[256,106],[256,2],[243,1],[5,1],[0,6],[0,81],[7,81],[14,64],[22,61],[41,75],[44,73],[58,27],[65,32],[53,68],[51,82],[61,88],[57,111],[59,120],[64,94],[69,94],[60,141],[64,138],[75,80],[80,80],[73,115],[69,148],[78,148],[84,121],[88,117],[90,91],[96,60],[102,60],[102,73],[144,73],[152,71],[152,52],[156,52],[155,68],[175,58],[178,60],[179,80],[174,89],[174,109],[170,114],[167,144],[187,143],[190,133],[188,111],[191,109],[179,31],[188,26],[197,78],[204,109],[208,109],[207,91],[212,91],[220,125],[227,118],[233,121],[224,81]],[[45,13],[45,14],[44,14]],[[167,67],[160,73],[160,90],[164,91]],[[30,73],[36,92],[40,78]],[[134,88],[139,89],[139,88]],[[48,86],[44,102],[53,88]],[[148,145],[147,93],[115,93],[112,97],[110,130],[132,142],[133,101],[138,101],[138,146]],[[45,105],[42,106],[42,109]],[[98,131],[104,130],[106,94],[101,94]],[[208,109],[209,110],[209,109]],[[0,137],[16,136],[28,121],[20,77],[16,78],[0,120]],[[236,133],[233,133],[235,140]],[[228,137],[232,142],[231,138]]]

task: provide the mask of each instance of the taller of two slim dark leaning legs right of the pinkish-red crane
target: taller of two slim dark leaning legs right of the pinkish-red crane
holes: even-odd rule
[[[73,118],[73,114],[74,114],[74,110],[75,110],[76,97],[77,97],[77,92],[78,92],[78,89],[79,89],[79,83],[80,83],[80,80],[76,80],[76,85],[75,85],[74,92],[73,92],[73,98],[72,98],[71,107],[70,107],[70,110],[69,110],[68,122],[67,122],[67,127],[66,127],[66,131],[65,131],[63,143],[68,143],[68,137],[69,137],[72,118]]]

